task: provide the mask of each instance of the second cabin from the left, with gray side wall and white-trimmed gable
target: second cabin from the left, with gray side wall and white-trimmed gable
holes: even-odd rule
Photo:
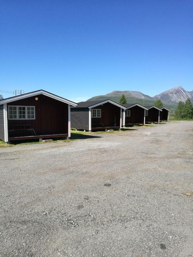
[[[109,99],[80,102],[71,107],[71,127],[83,130],[120,129],[124,106]]]

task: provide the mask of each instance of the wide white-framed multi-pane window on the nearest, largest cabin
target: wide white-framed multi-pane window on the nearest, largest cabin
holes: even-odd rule
[[[9,106],[9,120],[34,120],[35,106]]]

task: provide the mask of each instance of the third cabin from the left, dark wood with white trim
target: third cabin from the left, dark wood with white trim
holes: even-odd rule
[[[126,107],[122,111],[122,126],[130,125],[144,125],[145,124],[145,111],[148,109],[137,103],[123,104]]]

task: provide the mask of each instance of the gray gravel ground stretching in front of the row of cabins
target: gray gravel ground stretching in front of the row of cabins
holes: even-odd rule
[[[0,255],[192,256],[192,127],[0,148]]]

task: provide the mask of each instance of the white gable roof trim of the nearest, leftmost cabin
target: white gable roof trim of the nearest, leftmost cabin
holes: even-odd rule
[[[35,92],[31,92],[31,93],[27,93],[27,94],[24,94],[24,95],[17,95],[15,97],[10,97],[8,99],[3,99],[0,101],[0,104],[4,104],[4,103],[10,103],[10,102],[13,102],[13,101],[17,101],[17,100],[21,100],[21,99],[25,99],[25,98],[28,98],[28,97],[33,97],[35,95],[45,95],[47,97],[51,97],[55,100],[58,100],[60,102],[63,102],[63,103],[67,103],[68,105],[72,105],[72,106],[77,106],[77,103],[73,103],[67,99],[64,99],[62,97],[59,97],[57,95],[53,95],[47,91],[44,91],[44,90],[38,90],[38,91],[35,91]]]

